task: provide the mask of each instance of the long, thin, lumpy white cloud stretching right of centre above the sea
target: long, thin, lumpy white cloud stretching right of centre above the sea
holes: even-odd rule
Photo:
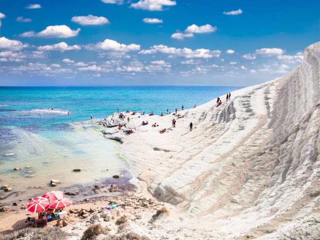
[[[210,51],[208,49],[196,49],[192,50],[190,48],[175,48],[168,47],[165,45],[154,45],[148,50],[142,50],[140,54],[153,54],[153,53],[164,53],[170,54],[170,58],[174,57],[184,57],[184,58],[212,58],[212,57],[220,57],[220,50]]]

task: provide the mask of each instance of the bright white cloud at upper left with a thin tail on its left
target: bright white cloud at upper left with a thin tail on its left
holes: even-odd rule
[[[57,26],[48,26],[45,30],[42,30],[39,33],[34,33],[33,31],[20,34],[23,37],[48,37],[48,38],[67,38],[78,35],[80,29],[71,30],[68,26],[57,25]]]

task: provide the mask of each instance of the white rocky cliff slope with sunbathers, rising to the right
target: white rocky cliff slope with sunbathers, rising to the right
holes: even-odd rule
[[[129,123],[114,114],[103,122],[135,133],[113,127],[105,137],[122,141],[142,192],[225,238],[320,238],[319,60],[317,42],[287,76],[179,111],[176,128],[171,114],[126,113]]]

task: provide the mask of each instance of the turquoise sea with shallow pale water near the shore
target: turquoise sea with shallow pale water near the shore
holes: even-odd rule
[[[97,123],[118,107],[120,112],[173,112],[182,104],[192,108],[240,88],[0,87],[0,185],[12,188],[0,189],[0,204],[94,186],[115,174],[130,179],[120,143],[104,138]],[[73,171],[79,168],[81,172]],[[51,179],[62,183],[52,187]]]

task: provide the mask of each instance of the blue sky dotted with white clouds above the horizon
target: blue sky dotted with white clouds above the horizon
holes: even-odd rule
[[[1,0],[0,86],[250,86],[319,41],[319,0]]]

